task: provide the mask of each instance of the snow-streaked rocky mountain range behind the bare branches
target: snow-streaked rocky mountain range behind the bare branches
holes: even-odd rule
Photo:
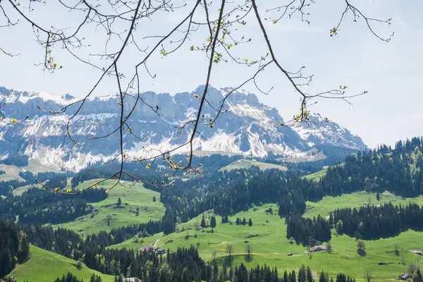
[[[200,86],[193,92],[171,95],[145,92],[143,99],[148,104],[159,106],[160,116],[149,106],[139,103],[128,120],[130,128],[142,142],[133,135],[126,134],[124,147],[133,154],[144,154],[142,147],[166,150],[183,144],[188,140],[189,127],[181,133],[178,126],[192,120],[197,114],[199,100],[195,94],[204,91]],[[209,87],[207,99],[217,105],[230,88],[215,89]],[[135,99],[127,97],[125,109],[130,109]],[[42,164],[55,168],[78,171],[90,162],[109,159],[118,152],[118,134],[110,137],[89,140],[92,135],[101,136],[113,131],[119,124],[120,107],[116,97],[94,97],[87,99],[80,113],[71,123],[71,133],[84,145],[74,147],[66,140],[66,122],[76,106],[68,108],[66,113],[54,115],[39,111],[41,109],[56,111],[75,102],[70,94],[57,97],[44,92],[26,92],[0,87],[1,110],[6,116],[23,119],[23,123],[12,124],[0,121],[0,159],[9,154],[25,154],[37,159]],[[364,149],[366,146],[355,135],[336,123],[310,123],[310,125],[281,126],[283,118],[276,108],[259,103],[255,94],[238,91],[227,100],[226,109],[214,124],[200,125],[197,129],[203,137],[195,138],[195,149],[203,152],[245,154],[264,157],[269,152],[278,155],[292,155],[306,152],[319,145]],[[214,117],[216,110],[206,104],[202,113],[207,120]],[[312,121],[321,121],[319,115],[312,116]],[[188,151],[188,147],[179,152]]]

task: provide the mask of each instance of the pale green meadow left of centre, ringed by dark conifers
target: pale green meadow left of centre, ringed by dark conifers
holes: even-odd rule
[[[77,188],[82,189],[99,180],[87,180],[80,183]],[[115,180],[106,180],[99,185],[101,188],[111,188]],[[74,221],[55,225],[54,227],[61,226],[70,228],[78,233],[97,233],[99,231],[110,231],[111,228],[119,226],[128,226],[133,223],[145,223],[150,219],[159,220],[164,215],[165,207],[159,202],[160,193],[148,190],[140,183],[132,183],[125,181],[123,183],[126,187],[117,185],[110,190],[109,197],[102,202],[92,203],[94,209],[98,209],[98,213],[91,218],[91,214],[81,216]],[[156,197],[157,202],[153,202],[153,197]],[[118,198],[121,197],[122,209],[117,209],[116,204]],[[110,207],[107,207],[110,205]],[[140,207],[140,215],[135,215],[135,209]],[[147,210],[142,209],[147,207]],[[130,212],[133,209],[133,212]],[[107,226],[107,216],[111,215],[110,226]]]

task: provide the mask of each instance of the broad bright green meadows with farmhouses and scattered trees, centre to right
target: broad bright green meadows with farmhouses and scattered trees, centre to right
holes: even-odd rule
[[[307,212],[305,216],[315,216],[318,213],[328,214],[331,209],[335,207],[360,207],[360,204],[367,202],[367,199],[372,197],[372,202],[376,203],[374,195],[367,193],[354,193],[351,195],[343,195],[341,197],[325,197],[324,200],[318,203],[307,203]],[[398,197],[381,195],[381,202],[396,202],[397,204],[405,202],[423,203],[423,197],[417,199],[401,200]],[[406,252],[410,249],[423,248],[422,233],[415,231],[407,231],[401,233],[397,237],[387,238],[381,240],[366,241],[367,255],[361,257],[357,254],[357,245],[354,238],[347,235],[340,235],[336,237],[333,235],[331,244],[333,252],[315,253],[312,257],[304,255],[306,250],[302,245],[290,245],[286,238],[286,226],[284,219],[279,218],[276,214],[266,214],[266,207],[274,207],[277,213],[275,204],[265,204],[264,207],[258,207],[254,212],[250,209],[248,212],[240,212],[235,216],[231,216],[231,220],[235,221],[236,217],[247,220],[249,218],[253,221],[253,226],[236,226],[220,224],[221,218],[217,216],[217,226],[215,233],[201,233],[198,231],[183,231],[180,233],[172,233],[163,236],[162,233],[156,234],[149,238],[144,238],[144,242],[135,242],[135,238],[127,240],[121,244],[112,247],[128,247],[138,249],[142,245],[154,244],[157,240],[158,247],[169,248],[176,250],[178,246],[189,247],[190,245],[199,245],[199,252],[203,259],[211,260],[212,252],[216,250],[219,264],[240,264],[243,262],[249,267],[257,266],[257,264],[268,264],[270,266],[277,266],[278,269],[298,269],[301,264],[309,264],[312,270],[329,271],[329,274],[336,274],[336,272],[343,271],[362,280],[364,271],[372,272],[374,280],[388,281],[396,278],[399,274],[407,271],[407,266],[398,264],[401,262],[402,255],[397,257],[394,253],[394,247],[399,245],[400,249],[405,250],[405,260],[408,264],[417,264],[417,255]],[[313,209],[310,209],[314,207]],[[201,216],[197,216],[189,223],[183,223],[181,226],[194,226],[194,222],[200,223]],[[209,214],[211,216],[211,214]],[[269,220],[269,223],[266,223]],[[258,233],[260,236],[255,238],[245,238],[247,235]],[[188,240],[185,240],[185,235],[190,235]],[[194,235],[197,234],[197,238]],[[169,240],[173,242],[169,243]],[[245,240],[249,241],[253,248],[252,259],[247,259],[245,256]],[[223,243],[223,244],[222,244]],[[225,252],[226,244],[233,244],[235,256],[229,260]],[[292,252],[293,257],[288,257],[287,253]],[[378,265],[378,262],[395,262],[396,264]],[[330,267],[329,267],[330,266]]]

